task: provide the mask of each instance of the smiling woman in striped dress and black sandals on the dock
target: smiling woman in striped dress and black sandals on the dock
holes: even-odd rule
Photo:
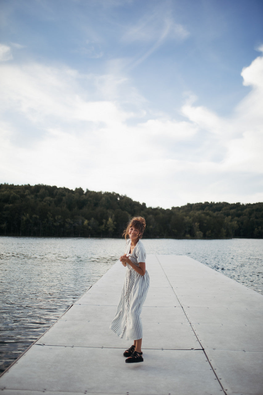
[[[126,331],[126,340],[134,340],[133,345],[124,352],[126,363],[143,362],[141,342],[143,327],[141,310],[149,288],[149,275],[145,269],[145,248],[141,242],[145,229],[145,219],[134,217],[123,232],[126,241],[125,254],[120,257],[127,267],[124,286],[113,322],[110,325],[119,337]]]

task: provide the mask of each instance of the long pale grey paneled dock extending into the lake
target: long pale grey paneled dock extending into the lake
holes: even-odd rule
[[[144,362],[109,329],[117,262],[0,378],[3,395],[262,395],[263,296],[186,256],[148,255]]]

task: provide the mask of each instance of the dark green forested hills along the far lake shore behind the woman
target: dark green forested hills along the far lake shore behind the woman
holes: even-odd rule
[[[115,192],[0,184],[0,235],[121,237],[137,215],[146,220],[145,238],[263,237],[262,202],[188,203],[162,209]]]

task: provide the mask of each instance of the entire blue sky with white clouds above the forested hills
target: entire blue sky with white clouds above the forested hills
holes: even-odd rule
[[[1,0],[0,183],[263,201],[261,0]]]

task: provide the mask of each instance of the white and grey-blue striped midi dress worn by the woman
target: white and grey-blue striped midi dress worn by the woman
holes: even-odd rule
[[[131,240],[126,243],[125,254],[132,263],[139,267],[139,262],[145,262],[146,252],[141,240],[139,240],[130,254]],[[142,276],[127,263],[126,276],[115,318],[110,325],[119,337],[123,337],[126,331],[126,340],[139,340],[143,337],[141,323],[141,310],[149,288],[149,275],[145,272]]]

